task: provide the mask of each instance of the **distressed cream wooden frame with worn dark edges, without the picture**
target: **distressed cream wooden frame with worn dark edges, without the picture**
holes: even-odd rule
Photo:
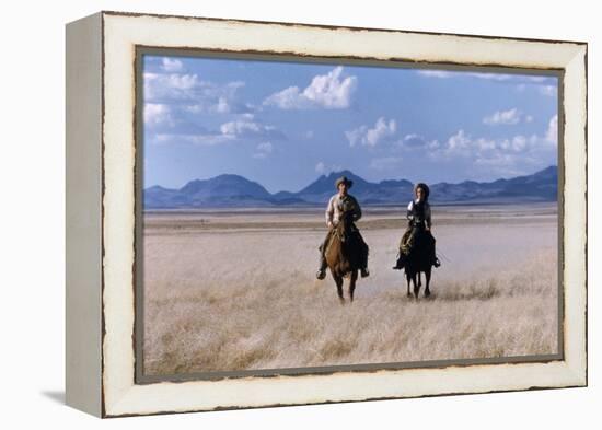
[[[140,383],[140,47],[562,73],[562,357]],[[101,417],[587,385],[587,44],[101,12],[67,26],[67,403]]]

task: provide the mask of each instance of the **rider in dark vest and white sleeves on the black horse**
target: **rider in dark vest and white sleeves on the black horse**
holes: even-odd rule
[[[415,248],[416,241],[426,241],[429,248],[430,263],[435,267],[439,267],[441,263],[437,258],[435,252],[435,237],[430,231],[431,218],[430,218],[430,205],[428,197],[430,189],[427,184],[418,183],[414,187],[415,199],[409,201],[407,206],[406,218],[408,219],[408,226],[402,241],[400,243],[400,253],[397,254],[397,262],[393,266],[394,270],[401,270],[404,268],[407,257]]]

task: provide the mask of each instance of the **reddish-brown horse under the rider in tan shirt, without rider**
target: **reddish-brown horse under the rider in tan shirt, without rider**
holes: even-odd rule
[[[344,213],[334,228],[325,253],[326,263],[335,280],[341,303],[345,303],[343,279],[349,277],[349,300],[352,302],[358,270],[361,268],[362,252],[368,252],[362,249],[363,245],[356,229],[350,216]]]

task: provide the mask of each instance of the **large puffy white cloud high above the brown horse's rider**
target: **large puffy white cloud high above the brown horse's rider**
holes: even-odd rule
[[[338,66],[327,74],[319,74],[303,91],[299,86],[289,86],[264,100],[264,105],[274,105],[281,109],[349,107],[351,95],[357,86],[356,77],[341,79],[343,67]]]

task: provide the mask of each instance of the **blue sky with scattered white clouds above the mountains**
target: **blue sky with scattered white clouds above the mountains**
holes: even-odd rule
[[[557,164],[557,78],[181,56],[143,59],[144,188],[235,173],[297,191],[493,181]]]

